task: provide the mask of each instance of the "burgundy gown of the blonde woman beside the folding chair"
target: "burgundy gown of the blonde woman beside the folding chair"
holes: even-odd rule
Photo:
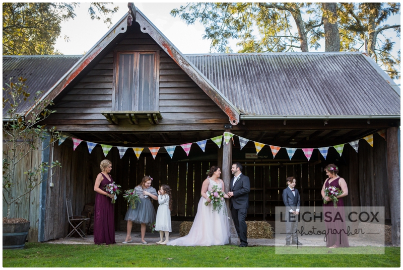
[[[103,179],[99,188],[104,190],[104,186],[113,183],[113,179],[109,175],[111,180],[109,182],[108,178],[103,173],[101,174]],[[97,245],[102,243],[106,243],[107,245],[116,244],[112,199],[98,192],[95,194],[94,205],[94,242]]]

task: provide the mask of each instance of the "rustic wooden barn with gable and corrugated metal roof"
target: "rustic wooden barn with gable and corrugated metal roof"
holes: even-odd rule
[[[115,146],[106,158],[123,190],[144,175],[156,189],[172,188],[174,221],[193,219],[212,165],[222,167],[228,189],[231,163],[241,162],[251,180],[247,219],[271,220],[287,176],[296,177],[303,206],[321,206],[323,168],[335,163],[349,187],[346,204],[384,206],[400,245],[400,89],[365,53],[184,55],[129,4],[84,56],[3,56],[3,85],[18,76],[54,101],[44,124],[69,137],[42,156],[62,164],[52,185],[25,199],[30,209],[13,210],[31,220],[30,241],[68,234],[66,197],[76,215],[94,203],[102,144]],[[233,135],[228,144],[211,140],[224,132]],[[144,149],[137,156],[132,148]],[[117,229],[125,212],[120,197]]]

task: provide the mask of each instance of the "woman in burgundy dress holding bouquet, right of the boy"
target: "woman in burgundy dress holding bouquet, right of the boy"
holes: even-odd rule
[[[334,164],[329,164],[324,169],[326,171],[326,175],[329,177],[323,184],[322,188],[322,197],[328,203],[323,204],[323,213],[330,212],[332,220],[326,222],[328,218],[324,215],[325,225],[326,225],[326,247],[329,248],[337,248],[337,247],[349,247],[349,238],[347,235],[347,227],[344,213],[344,202],[342,197],[346,197],[349,194],[349,190],[347,188],[347,184],[344,178],[338,175],[339,168]],[[336,196],[339,199],[337,203],[337,208],[334,208],[333,202],[331,199],[324,195],[324,189],[329,186],[336,187],[343,191],[343,194]],[[327,215],[328,216],[328,215]],[[338,217],[338,218],[335,218]],[[343,218],[343,221],[340,220],[340,217]]]

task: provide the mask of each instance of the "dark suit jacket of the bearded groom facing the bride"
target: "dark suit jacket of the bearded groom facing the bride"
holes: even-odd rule
[[[234,209],[249,208],[249,177],[242,173],[241,177],[235,182],[234,187],[232,187],[234,178],[232,177],[230,181],[230,191],[234,193],[234,197],[231,198],[230,207]]]

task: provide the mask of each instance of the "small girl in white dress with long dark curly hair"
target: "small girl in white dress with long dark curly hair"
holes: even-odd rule
[[[157,218],[155,220],[155,230],[160,231],[161,240],[157,242],[160,245],[166,245],[169,242],[169,232],[171,232],[171,209],[172,196],[171,188],[168,185],[161,185],[158,191],[158,203],[160,206],[157,210]],[[163,241],[165,232],[165,241]]]

